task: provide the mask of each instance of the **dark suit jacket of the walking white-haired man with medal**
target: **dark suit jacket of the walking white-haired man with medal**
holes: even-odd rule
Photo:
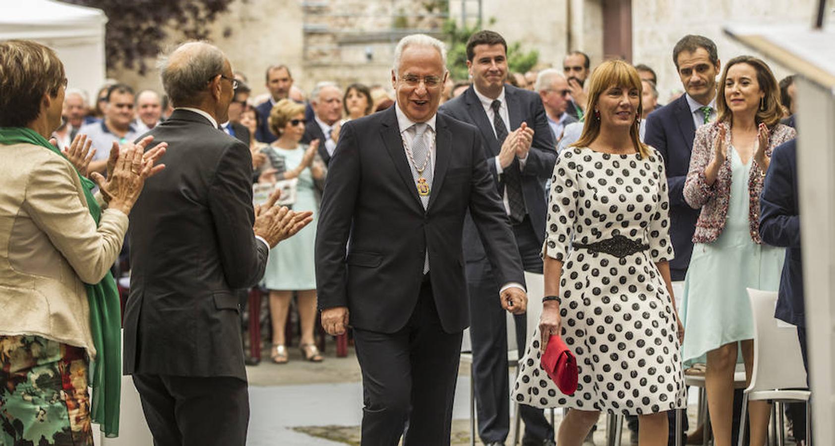
[[[443,114],[436,129],[433,192],[424,210],[395,110],[342,127],[316,229],[316,286],[319,307],[347,306],[353,327],[392,333],[405,326],[417,303],[427,251],[444,331],[468,326],[461,243],[467,210],[483,235],[497,281],[524,284],[478,130]]]

